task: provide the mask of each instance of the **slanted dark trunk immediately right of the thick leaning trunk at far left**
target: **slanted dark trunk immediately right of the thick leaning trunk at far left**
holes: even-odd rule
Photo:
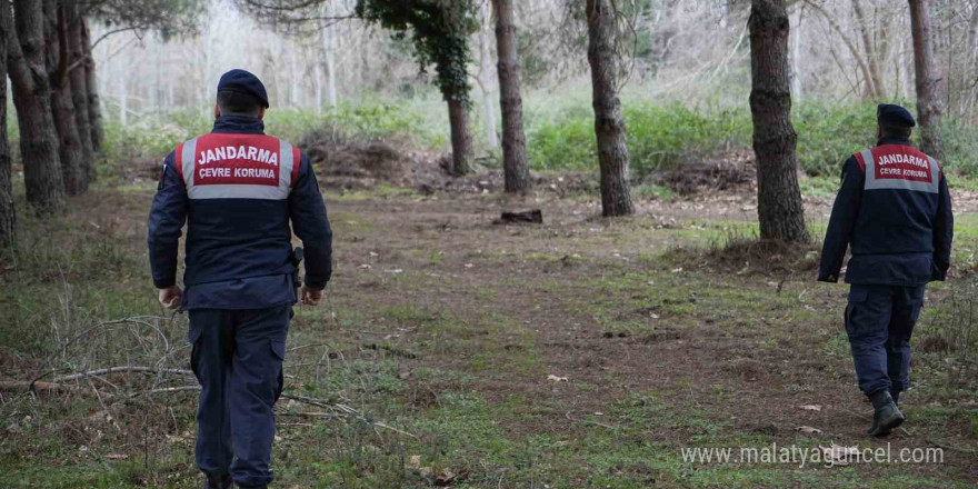
[[[61,180],[69,196],[77,196],[88,187],[82,171],[81,139],[74,118],[74,102],[71,100],[71,83],[68,79],[68,24],[64,9],[58,0],[44,0],[47,24],[48,73],[51,81],[51,114],[58,130],[58,153],[61,157]]]

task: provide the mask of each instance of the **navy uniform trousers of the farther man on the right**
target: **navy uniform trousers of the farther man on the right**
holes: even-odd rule
[[[924,306],[925,286],[852,283],[846,332],[859,389],[905,391],[910,385],[910,336]]]

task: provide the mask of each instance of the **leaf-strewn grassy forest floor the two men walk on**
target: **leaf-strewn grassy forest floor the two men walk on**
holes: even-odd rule
[[[751,244],[750,191],[643,199],[613,220],[593,198],[553,192],[325,193],[337,267],[329,300],[296,308],[276,487],[978,483],[978,350],[960,308],[978,213],[964,191],[958,277],[928,291],[908,422],[882,439],[862,435],[871,408],[841,325],[846,287],[815,282],[817,246]],[[101,187],[27,223],[19,261],[0,272],[0,381],[188,368],[186,316],[162,311],[149,280],[151,198],[146,182]],[[818,237],[831,202],[806,204]],[[543,224],[492,222],[531,208]],[[192,377],[43,380],[60,390],[2,392],[0,486],[199,487],[194,392],[146,391]],[[804,465],[781,459],[792,446]],[[734,451],[707,462],[693,447]],[[740,447],[775,457],[747,461]],[[822,447],[891,461],[829,466]],[[942,460],[897,460],[928,448]]]

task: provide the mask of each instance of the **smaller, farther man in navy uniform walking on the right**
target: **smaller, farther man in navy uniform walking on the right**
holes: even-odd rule
[[[940,166],[910,146],[910,112],[881,104],[877,119],[878,144],[842,167],[818,280],[838,281],[851,247],[846,332],[875,409],[868,433],[879,437],[904,422],[897,403],[910,382],[910,335],[925,286],[947,277],[954,217]]]

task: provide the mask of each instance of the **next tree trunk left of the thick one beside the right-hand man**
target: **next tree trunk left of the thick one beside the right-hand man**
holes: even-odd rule
[[[615,7],[611,0],[588,0],[588,63],[593,89],[595,136],[601,170],[601,210],[606,217],[635,213],[628,181],[628,146],[618,100]]]

